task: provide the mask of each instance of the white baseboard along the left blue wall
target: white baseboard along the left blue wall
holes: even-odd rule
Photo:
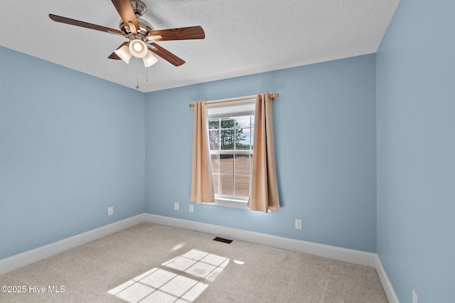
[[[144,213],[0,260],[0,275],[144,222]]]

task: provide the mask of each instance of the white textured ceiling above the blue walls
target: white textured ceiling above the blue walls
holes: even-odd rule
[[[139,62],[139,90],[221,80],[375,53],[399,0],[142,0],[156,30],[200,25],[204,40],[158,44],[186,60]],[[109,28],[120,17],[109,0],[1,0],[0,45],[127,87],[137,60],[109,60],[124,38],[56,23],[48,14]],[[146,82],[146,77],[148,81]]]

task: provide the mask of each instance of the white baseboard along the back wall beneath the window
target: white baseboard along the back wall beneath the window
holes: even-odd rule
[[[276,235],[267,235],[265,233],[255,233],[248,230],[240,230],[236,228],[227,228],[220,225],[200,223],[191,220],[183,220],[178,218],[164,217],[144,214],[144,220],[149,223],[166,225],[175,228],[183,228],[194,230],[201,233],[209,233],[223,238],[232,240],[242,240],[251,243],[257,243],[274,248],[282,248],[285,250],[293,250],[296,252],[304,252],[310,255],[319,255],[335,260],[351,262],[370,267],[376,266],[377,255],[373,252],[363,252],[360,250],[350,250],[347,248],[338,248],[331,245],[323,245],[318,243],[306,242],[303,240],[295,240],[290,238],[278,237]]]

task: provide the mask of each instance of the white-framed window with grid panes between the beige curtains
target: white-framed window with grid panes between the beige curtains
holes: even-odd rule
[[[217,205],[246,207],[252,180],[255,100],[208,107],[213,187]]]

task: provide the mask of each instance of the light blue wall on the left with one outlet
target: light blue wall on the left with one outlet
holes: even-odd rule
[[[0,58],[0,259],[143,213],[144,94]]]

